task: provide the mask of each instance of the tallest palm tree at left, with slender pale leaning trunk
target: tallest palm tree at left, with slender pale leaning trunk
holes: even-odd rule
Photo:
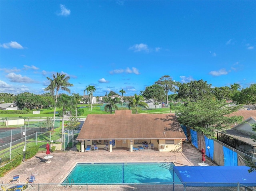
[[[52,130],[53,130],[54,129],[54,124],[55,124],[58,91],[61,89],[63,91],[66,91],[66,92],[70,93],[70,89],[68,89],[68,87],[72,87],[74,85],[68,82],[70,77],[69,76],[66,77],[66,74],[60,74],[60,73],[57,72],[56,76],[54,74],[52,76],[53,76],[53,79],[50,79],[50,78],[47,77],[47,79],[50,81],[50,85],[48,87],[46,87],[44,90],[52,92],[53,90],[56,89],[53,126],[52,126]]]

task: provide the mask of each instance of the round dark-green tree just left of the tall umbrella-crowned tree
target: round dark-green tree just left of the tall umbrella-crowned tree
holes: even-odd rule
[[[148,86],[143,91],[142,96],[144,96],[147,100],[153,99],[156,109],[156,105],[159,104],[158,102],[161,101],[162,98],[164,98],[164,88],[158,84]]]

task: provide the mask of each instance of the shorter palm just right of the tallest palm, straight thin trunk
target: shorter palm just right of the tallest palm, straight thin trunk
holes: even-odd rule
[[[62,144],[61,144],[61,147],[64,142],[64,116],[65,116],[66,110],[69,109],[71,101],[72,101],[71,96],[68,96],[66,94],[60,94],[60,96],[58,97],[57,106],[62,108],[62,126],[61,126],[61,143]]]

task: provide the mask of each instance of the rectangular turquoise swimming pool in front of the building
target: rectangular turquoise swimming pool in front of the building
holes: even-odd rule
[[[163,183],[173,181],[173,164],[164,163],[78,163],[65,180],[74,183]],[[174,173],[175,182],[180,182]],[[65,183],[65,181],[63,182]]]

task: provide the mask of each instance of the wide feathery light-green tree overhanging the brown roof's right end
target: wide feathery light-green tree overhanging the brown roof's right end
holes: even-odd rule
[[[216,130],[224,130],[231,124],[242,122],[242,116],[226,116],[239,107],[228,106],[225,100],[198,100],[180,107],[176,115],[180,124],[212,137]]]

